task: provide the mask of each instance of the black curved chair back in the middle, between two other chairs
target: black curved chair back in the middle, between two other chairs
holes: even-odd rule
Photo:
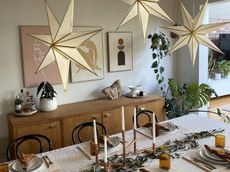
[[[102,129],[103,134],[106,135],[106,128],[103,124],[96,122],[96,126],[97,126],[97,135],[98,135],[98,127],[100,127]],[[81,133],[82,133],[83,129],[87,128],[87,127],[93,127],[93,122],[81,123],[73,129],[73,131],[72,131],[73,144],[77,144],[76,135],[77,135],[79,142],[82,143]]]

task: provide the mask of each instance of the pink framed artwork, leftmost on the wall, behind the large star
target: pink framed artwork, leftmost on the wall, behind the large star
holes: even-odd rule
[[[55,62],[36,73],[40,63],[48,51],[48,46],[32,38],[29,36],[29,34],[48,35],[48,26],[20,26],[20,33],[23,57],[24,86],[35,87],[38,86],[42,81],[49,81],[51,84],[61,83],[61,77]]]

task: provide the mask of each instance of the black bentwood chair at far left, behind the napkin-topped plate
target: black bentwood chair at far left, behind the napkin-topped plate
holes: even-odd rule
[[[14,158],[15,156],[16,156],[16,158],[19,158],[20,146],[23,146],[23,143],[25,143],[27,141],[31,141],[31,142],[33,141],[33,143],[34,142],[38,143],[38,145],[39,145],[39,148],[38,148],[39,152],[38,153],[44,152],[45,145],[48,146],[48,151],[51,151],[51,149],[52,149],[52,142],[48,137],[41,135],[41,134],[25,135],[25,136],[14,139],[8,145],[8,147],[7,147],[7,159],[8,159],[8,161],[15,159]]]

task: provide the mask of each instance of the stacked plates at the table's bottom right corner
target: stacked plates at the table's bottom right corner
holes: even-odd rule
[[[221,150],[223,150],[225,152],[229,152],[228,150],[222,149],[222,148],[211,147],[211,149],[216,149],[216,150],[220,150],[221,149]],[[223,164],[223,165],[224,164],[229,164],[229,162],[227,162],[224,159],[219,158],[215,154],[210,153],[204,147],[202,147],[202,149],[200,150],[199,155],[204,160],[207,160],[207,161],[212,162],[212,163]]]

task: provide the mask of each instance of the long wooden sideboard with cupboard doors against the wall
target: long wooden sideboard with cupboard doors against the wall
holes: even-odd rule
[[[38,112],[33,116],[16,117],[8,114],[10,141],[27,134],[43,134],[49,137],[53,149],[72,143],[72,130],[82,122],[92,121],[105,125],[107,134],[121,131],[121,106],[125,107],[126,130],[133,128],[133,108],[145,108],[156,112],[159,121],[164,120],[164,99],[156,95],[141,98],[121,97],[116,100],[95,99],[58,106],[53,112]],[[144,123],[146,119],[141,119]],[[31,146],[30,146],[31,147]]]

